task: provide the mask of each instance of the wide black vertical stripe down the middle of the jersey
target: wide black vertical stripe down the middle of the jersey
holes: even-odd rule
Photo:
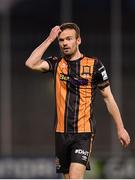
[[[78,88],[79,85],[75,84],[74,80],[78,78],[80,61],[70,61],[69,63],[69,82],[67,83],[67,105],[66,105],[66,122],[68,132],[77,132],[78,121]]]

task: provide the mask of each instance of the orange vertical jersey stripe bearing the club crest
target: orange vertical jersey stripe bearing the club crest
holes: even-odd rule
[[[88,78],[87,86],[80,86],[80,102],[78,115],[78,132],[91,132],[90,125],[90,108],[91,108],[91,93],[92,93],[92,76],[94,60],[90,58],[83,58],[80,64],[80,75],[83,78]],[[91,74],[85,74],[84,67],[90,68]]]

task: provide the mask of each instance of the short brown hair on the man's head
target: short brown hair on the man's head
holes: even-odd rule
[[[61,31],[64,31],[65,29],[74,29],[76,32],[76,37],[80,37],[80,28],[77,26],[77,24],[72,22],[63,23],[60,26]]]

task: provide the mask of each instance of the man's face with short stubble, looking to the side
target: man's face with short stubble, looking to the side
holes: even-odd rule
[[[58,37],[59,46],[61,52],[65,56],[72,56],[74,55],[81,43],[80,38],[76,37],[76,32],[74,29],[65,29],[62,31]]]

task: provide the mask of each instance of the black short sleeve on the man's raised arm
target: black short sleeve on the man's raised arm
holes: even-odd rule
[[[50,56],[50,57],[46,58],[45,61],[47,61],[49,64],[49,71],[54,72],[56,64],[58,62],[58,58],[55,56]]]

